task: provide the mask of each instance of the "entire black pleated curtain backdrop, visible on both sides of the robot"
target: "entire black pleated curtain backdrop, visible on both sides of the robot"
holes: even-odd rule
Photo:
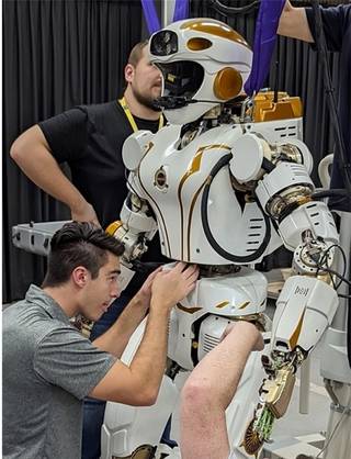
[[[167,1],[167,0],[163,0]],[[341,1],[340,1],[341,2]],[[222,0],[229,7],[244,1]],[[325,2],[324,2],[325,3]],[[330,4],[331,2],[329,2]],[[303,4],[299,2],[298,4]],[[123,86],[128,51],[141,37],[139,0],[12,0],[3,2],[3,300],[22,298],[29,283],[39,283],[44,260],[15,249],[11,227],[30,221],[69,217],[54,200],[32,184],[9,158],[15,137],[39,120],[79,103],[104,102]],[[252,45],[256,14],[225,18],[208,1],[190,1],[190,15],[229,23]],[[322,72],[310,46],[279,38],[279,87],[299,96],[305,108],[305,141],[318,161],[332,150],[332,127],[324,93]],[[338,56],[330,55],[333,81]],[[267,86],[273,87],[272,64]],[[262,269],[288,266],[279,250]]]

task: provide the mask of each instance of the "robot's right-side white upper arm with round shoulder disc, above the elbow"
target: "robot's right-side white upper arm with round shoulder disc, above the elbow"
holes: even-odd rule
[[[259,133],[235,141],[230,171],[239,183],[256,182],[256,195],[279,228],[286,248],[295,250],[309,229],[315,239],[337,243],[338,232],[327,205],[313,201],[313,160],[299,139],[270,144]]]

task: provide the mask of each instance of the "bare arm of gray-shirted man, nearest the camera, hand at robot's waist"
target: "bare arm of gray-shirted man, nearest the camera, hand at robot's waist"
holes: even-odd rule
[[[166,367],[170,311],[194,289],[197,276],[196,267],[182,262],[155,276],[145,334],[131,366],[116,361],[90,396],[139,406],[155,403]]]

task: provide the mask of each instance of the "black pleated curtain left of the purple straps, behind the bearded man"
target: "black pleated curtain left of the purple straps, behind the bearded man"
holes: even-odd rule
[[[80,103],[112,100],[123,68],[141,37],[138,0],[8,0],[3,3],[3,301],[41,283],[43,257],[16,249],[11,227],[69,219],[9,157],[27,127]],[[30,154],[30,152],[29,152]]]

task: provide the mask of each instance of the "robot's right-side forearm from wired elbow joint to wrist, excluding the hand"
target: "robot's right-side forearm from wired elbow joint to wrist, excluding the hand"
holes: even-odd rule
[[[328,272],[333,262],[338,234],[333,224],[322,227],[324,220],[319,222],[316,223],[321,231],[313,227],[301,234],[302,242],[293,259],[297,276],[284,283],[273,321],[271,358],[295,359],[295,369],[316,346],[338,306],[338,294]],[[322,233],[325,238],[318,233]]]

